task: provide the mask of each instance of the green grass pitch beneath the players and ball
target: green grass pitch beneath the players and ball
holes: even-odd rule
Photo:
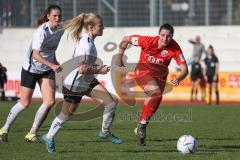
[[[0,102],[0,125],[15,102]],[[49,155],[44,144],[28,144],[24,136],[30,129],[37,107],[33,103],[14,123],[9,142],[0,143],[0,159],[126,159],[126,160],[239,160],[240,108],[231,106],[160,106],[147,128],[147,146],[137,145],[133,130],[140,107],[119,105],[112,131],[124,140],[121,145],[98,139],[101,118],[87,122],[67,122],[55,141],[57,153]],[[80,105],[79,112],[95,104]],[[46,133],[55,117],[52,110],[39,131]],[[180,155],[178,137],[191,134],[198,141],[193,155]]]

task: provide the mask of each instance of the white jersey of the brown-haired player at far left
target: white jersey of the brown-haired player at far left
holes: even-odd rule
[[[49,23],[43,23],[34,32],[29,48],[24,57],[23,68],[32,73],[41,74],[50,70],[51,68],[32,58],[33,49],[39,50],[43,58],[51,63],[56,64],[55,51],[58,47],[60,39],[64,31],[61,26],[58,26],[55,32],[52,32]]]

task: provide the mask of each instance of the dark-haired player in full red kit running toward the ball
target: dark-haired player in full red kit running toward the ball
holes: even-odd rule
[[[171,80],[171,84],[177,87],[188,74],[185,58],[180,46],[173,39],[173,34],[173,27],[170,24],[163,24],[159,29],[158,36],[125,36],[119,46],[116,65],[120,67],[124,67],[123,54],[128,44],[141,47],[140,60],[135,68],[135,80],[147,97],[144,99],[144,106],[137,127],[140,145],[146,145],[146,127],[162,101],[168,75],[168,65],[172,58],[181,71],[177,77]]]

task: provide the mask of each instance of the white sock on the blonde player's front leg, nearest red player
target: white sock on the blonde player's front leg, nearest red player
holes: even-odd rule
[[[113,102],[107,106],[105,106],[103,111],[103,122],[102,122],[102,132],[107,133],[110,130],[112,125],[115,110],[116,110],[117,103]]]

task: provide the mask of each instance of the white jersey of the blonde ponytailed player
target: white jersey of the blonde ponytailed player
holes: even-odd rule
[[[87,65],[95,65],[97,60],[97,50],[94,44],[94,41],[88,36],[87,33],[84,33],[78,42],[77,47],[75,48],[73,58],[78,58],[79,65],[85,63]],[[86,91],[94,79],[94,75],[90,74],[79,74],[78,68],[73,70],[64,80],[64,86],[73,91]]]

